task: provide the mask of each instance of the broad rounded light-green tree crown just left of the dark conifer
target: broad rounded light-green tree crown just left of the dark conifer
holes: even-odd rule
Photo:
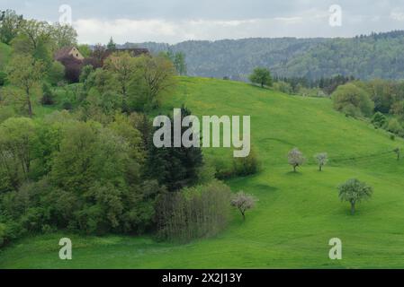
[[[58,187],[84,192],[96,180],[122,184],[128,145],[121,137],[94,123],[77,122],[64,129],[51,171]]]

